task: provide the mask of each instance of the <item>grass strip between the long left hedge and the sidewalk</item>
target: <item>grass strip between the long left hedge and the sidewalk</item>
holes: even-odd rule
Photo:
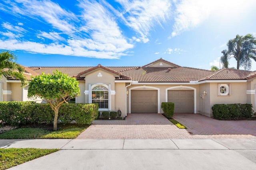
[[[0,139],[74,139],[89,125],[59,126],[57,131],[45,128],[23,127],[9,130],[0,134]]]

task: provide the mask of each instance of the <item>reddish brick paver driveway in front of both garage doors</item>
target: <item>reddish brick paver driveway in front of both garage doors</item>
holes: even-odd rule
[[[77,139],[256,138],[256,121],[217,121],[199,114],[174,114],[179,129],[161,114],[132,113],[125,121],[96,120]]]

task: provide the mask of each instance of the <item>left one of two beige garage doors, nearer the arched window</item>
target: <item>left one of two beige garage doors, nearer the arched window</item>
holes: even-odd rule
[[[157,113],[157,90],[132,90],[131,113]]]

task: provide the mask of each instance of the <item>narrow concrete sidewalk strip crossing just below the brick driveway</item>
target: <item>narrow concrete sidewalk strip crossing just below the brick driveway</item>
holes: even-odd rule
[[[0,148],[61,150],[256,150],[251,139],[0,139]],[[256,151],[255,151],[256,152]]]

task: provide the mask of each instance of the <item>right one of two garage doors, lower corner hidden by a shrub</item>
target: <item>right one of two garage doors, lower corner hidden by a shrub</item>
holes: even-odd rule
[[[194,113],[194,90],[168,90],[168,102],[174,103],[174,113]]]

